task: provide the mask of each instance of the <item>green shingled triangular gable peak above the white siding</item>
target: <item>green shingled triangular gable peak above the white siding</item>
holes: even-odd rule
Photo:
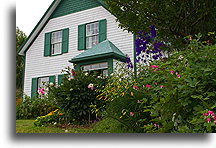
[[[97,0],[62,0],[50,18],[56,18],[101,6]]]

